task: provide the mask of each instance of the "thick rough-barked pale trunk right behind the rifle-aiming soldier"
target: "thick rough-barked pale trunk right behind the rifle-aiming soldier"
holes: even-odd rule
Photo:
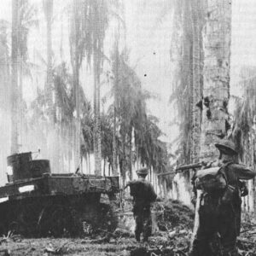
[[[226,136],[230,97],[231,1],[207,1],[203,30],[204,68],[201,125],[201,160],[218,156],[215,148]]]

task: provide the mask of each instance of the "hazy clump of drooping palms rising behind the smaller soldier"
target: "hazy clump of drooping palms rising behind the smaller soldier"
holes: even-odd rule
[[[119,54],[116,45],[112,55],[114,106],[119,130],[119,169],[125,184],[127,170],[132,179],[132,164],[135,160],[142,165],[152,166],[154,172],[164,172],[167,163],[166,148],[159,137],[162,135],[157,119],[148,116],[146,102],[150,95],[142,89],[137,73],[130,67],[128,56]],[[118,79],[118,83],[117,83]],[[115,107],[115,108],[113,108]],[[132,144],[134,135],[135,144]],[[137,148],[133,152],[132,148]]]

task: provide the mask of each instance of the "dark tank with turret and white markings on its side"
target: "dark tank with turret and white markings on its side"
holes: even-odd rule
[[[12,154],[7,163],[12,174],[0,187],[0,234],[81,236],[88,225],[107,233],[116,228],[111,201],[119,177],[51,173],[49,160],[32,160],[31,152]]]

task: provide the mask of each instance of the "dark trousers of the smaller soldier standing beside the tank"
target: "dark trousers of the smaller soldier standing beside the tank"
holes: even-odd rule
[[[143,233],[143,241],[148,241],[148,236],[151,236],[152,233],[152,218],[150,208],[134,212],[134,218],[136,222],[136,240],[140,241],[140,236]]]

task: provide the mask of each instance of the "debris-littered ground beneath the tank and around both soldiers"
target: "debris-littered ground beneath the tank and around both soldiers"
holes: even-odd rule
[[[124,211],[125,209],[125,211]],[[90,256],[180,256],[187,255],[192,234],[194,213],[178,201],[157,202],[153,208],[153,236],[148,243],[138,243],[133,236],[134,220],[131,201],[125,201],[119,212],[119,228],[109,241],[102,236],[84,238],[26,239],[17,235],[0,238],[0,255],[90,255]],[[256,225],[250,216],[243,216],[238,240],[242,256],[256,255]]]

